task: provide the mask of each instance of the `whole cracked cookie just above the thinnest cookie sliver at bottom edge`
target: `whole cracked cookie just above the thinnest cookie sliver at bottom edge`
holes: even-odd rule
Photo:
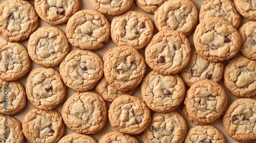
[[[63,104],[62,118],[68,128],[76,133],[99,132],[108,118],[105,101],[94,92],[76,92]]]

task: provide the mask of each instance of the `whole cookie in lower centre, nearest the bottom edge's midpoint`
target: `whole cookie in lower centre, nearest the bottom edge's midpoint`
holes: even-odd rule
[[[123,94],[111,103],[109,121],[121,133],[140,134],[150,124],[151,111],[142,99]]]

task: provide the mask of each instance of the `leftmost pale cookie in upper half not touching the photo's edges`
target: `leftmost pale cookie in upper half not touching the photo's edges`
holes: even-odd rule
[[[30,35],[28,53],[32,61],[53,67],[69,53],[69,41],[64,32],[55,27],[40,27]]]

